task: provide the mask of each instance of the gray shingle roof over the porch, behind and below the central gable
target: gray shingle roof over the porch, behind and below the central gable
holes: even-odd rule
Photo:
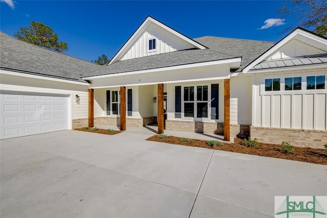
[[[157,68],[179,66],[183,64],[199,63],[242,57],[241,68],[258,58],[275,43],[245,39],[231,39],[213,36],[195,38],[195,41],[208,49],[189,49],[165,54],[151,55],[129,60],[117,61],[99,70],[84,74],[83,77],[116,74],[131,71],[141,71]]]

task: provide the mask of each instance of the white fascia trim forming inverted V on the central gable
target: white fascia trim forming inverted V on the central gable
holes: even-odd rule
[[[123,47],[115,54],[115,56],[113,56],[113,58],[107,65],[110,65],[110,64],[118,61],[118,59],[121,58],[122,53],[124,54],[125,52],[127,52],[129,47],[131,46],[131,44],[133,44],[136,41],[136,39],[137,39],[136,37],[141,35],[139,33],[143,33],[152,23],[159,26],[160,28],[165,29],[166,31],[176,35],[177,37],[189,42],[191,45],[193,45],[199,49],[206,49],[206,47],[202,46],[200,43],[194,41],[193,39],[184,36],[183,34],[177,32],[176,30],[174,30],[174,29],[168,27],[167,25],[160,23],[158,20],[148,16],[143,21],[143,23],[136,29],[136,31],[129,37],[129,39],[125,42]]]

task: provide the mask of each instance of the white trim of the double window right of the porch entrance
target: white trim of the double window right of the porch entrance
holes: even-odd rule
[[[196,96],[196,89],[197,86],[208,86],[208,100],[207,101],[197,101],[197,96]],[[186,101],[187,102],[194,102],[194,117],[185,117],[184,116],[184,87],[190,87],[194,86],[194,101]],[[192,84],[185,84],[181,86],[181,118],[182,120],[191,120],[191,121],[213,121],[211,120],[210,114],[211,114],[211,83],[207,84],[201,84],[201,83],[192,83]],[[207,117],[201,117],[197,118],[197,103],[198,102],[207,102],[208,103],[208,111],[207,111]]]

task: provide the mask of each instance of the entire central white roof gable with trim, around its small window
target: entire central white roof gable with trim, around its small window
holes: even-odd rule
[[[156,38],[156,50],[148,52],[148,40]],[[125,42],[108,65],[119,60],[162,54],[185,49],[206,49],[199,42],[177,32],[160,21],[148,16],[141,26]]]

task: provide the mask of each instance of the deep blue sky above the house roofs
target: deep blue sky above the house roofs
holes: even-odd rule
[[[13,1],[0,0],[0,30],[13,36],[39,21],[67,42],[65,54],[111,59],[152,16],[191,38],[220,36],[278,41],[295,21],[276,19],[283,1]],[[266,21],[266,23],[265,23]]]

